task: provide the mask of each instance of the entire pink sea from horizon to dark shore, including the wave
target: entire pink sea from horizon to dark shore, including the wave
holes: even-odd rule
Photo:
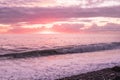
[[[55,80],[120,65],[119,34],[0,34],[0,80]]]

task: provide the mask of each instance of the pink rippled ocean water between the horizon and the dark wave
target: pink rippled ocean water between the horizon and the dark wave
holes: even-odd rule
[[[78,45],[120,42],[119,34],[30,34],[0,35],[0,55],[25,51],[64,48]]]

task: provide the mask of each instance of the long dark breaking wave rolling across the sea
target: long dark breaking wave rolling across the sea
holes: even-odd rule
[[[22,53],[10,53],[10,54],[0,55],[0,58],[40,57],[40,56],[49,56],[49,55],[95,52],[102,50],[112,50],[117,48],[120,48],[120,42],[77,45],[77,46],[67,46],[57,49],[35,50],[35,51],[28,51]]]

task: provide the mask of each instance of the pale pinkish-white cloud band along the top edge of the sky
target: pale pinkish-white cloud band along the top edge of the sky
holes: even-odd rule
[[[65,4],[65,5],[64,5]],[[120,5],[119,0],[0,0],[0,7],[105,7]]]

